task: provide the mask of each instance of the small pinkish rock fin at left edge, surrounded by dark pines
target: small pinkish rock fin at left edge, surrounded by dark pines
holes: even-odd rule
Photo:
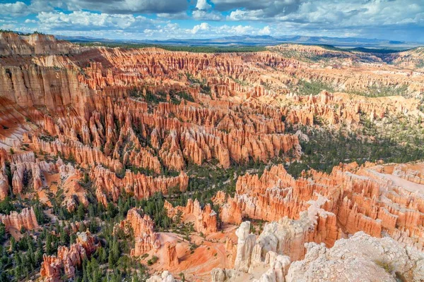
[[[20,231],[22,228],[33,230],[38,228],[37,218],[35,217],[34,209],[25,208],[20,213],[11,212],[9,215],[0,214],[0,221],[6,226],[6,231],[10,228],[15,228]]]

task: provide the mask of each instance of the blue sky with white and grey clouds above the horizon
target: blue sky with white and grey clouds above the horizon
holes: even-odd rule
[[[424,0],[0,0],[0,28],[110,39],[307,35],[424,42]]]

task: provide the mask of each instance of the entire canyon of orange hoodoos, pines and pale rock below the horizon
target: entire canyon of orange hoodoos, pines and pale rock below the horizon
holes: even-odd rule
[[[422,59],[0,32],[0,242],[33,281],[422,281]]]

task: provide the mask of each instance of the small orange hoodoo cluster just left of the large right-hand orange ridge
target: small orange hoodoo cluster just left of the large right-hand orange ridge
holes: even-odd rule
[[[181,216],[182,221],[192,221],[194,229],[199,233],[209,235],[218,231],[217,214],[211,208],[211,204],[206,204],[202,209],[197,199],[194,201],[189,199],[186,207],[172,207],[172,204],[166,201],[164,208],[170,218]]]

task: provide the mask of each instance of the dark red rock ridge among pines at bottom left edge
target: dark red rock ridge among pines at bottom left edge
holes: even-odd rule
[[[95,249],[95,239],[89,231],[78,233],[76,243],[70,247],[60,246],[57,256],[43,255],[40,270],[42,281],[59,282],[63,274],[73,278],[76,267],[81,266],[83,259],[90,257]]]

